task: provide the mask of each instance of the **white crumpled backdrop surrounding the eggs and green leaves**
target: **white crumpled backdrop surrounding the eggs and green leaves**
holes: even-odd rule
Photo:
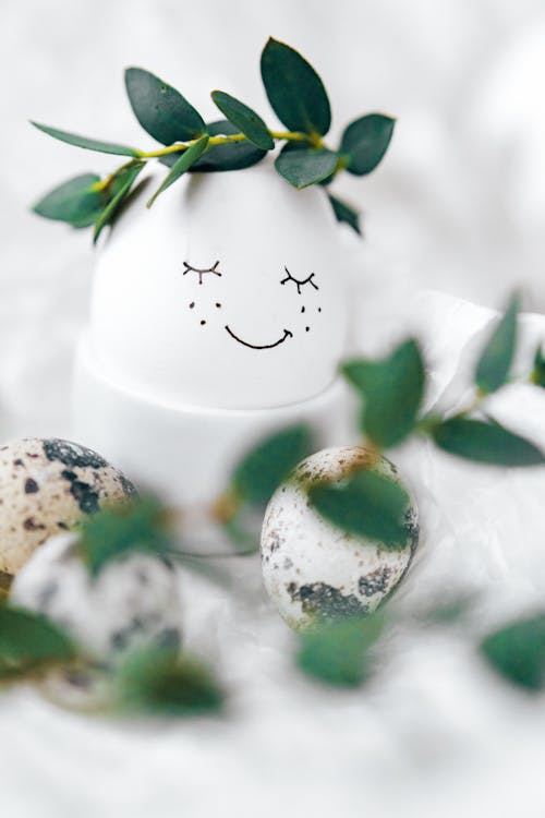
[[[415,332],[431,366],[429,405],[453,408],[492,320],[470,302],[500,309],[522,285],[525,306],[545,310],[538,0],[3,0],[3,437],[66,434],[93,269],[88,232],[40,220],[28,204],[71,175],[113,165],[48,140],[26,120],[144,147],[122,84],[123,68],[137,64],[207,117],[208,92],[221,87],[274,121],[258,74],[269,35],[320,72],[335,137],[366,111],[399,119],[384,166],[368,180],[338,184],[366,215],[366,242],[354,244],[354,348],[379,353]],[[449,294],[417,296],[429,287]],[[526,318],[521,371],[543,337],[543,320]],[[545,446],[544,400],[513,386],[495,409]],[[424,521],[400,600],[479,591],[475,636],[538,606],[543,471],[469,467],[419,444],[396,457]],[[256,562],[233,573],[235,594],[193,577],[183,582],[189,645],[232,688],[230,717],[128,726],[63,712],[29,690],[3,695],[2,815],[543,816],[543,699],[501,685],[472,639],[398,628],[372,685],[335,693],[293,669],[293,639],[264,598]]]

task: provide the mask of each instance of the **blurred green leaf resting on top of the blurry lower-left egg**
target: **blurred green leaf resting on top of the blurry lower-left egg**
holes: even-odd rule
[[[168,510],[153,496],[104,508],[85,520],[80,531],[80,553],[92,576],[130,552],[161,557],[174,549]]]

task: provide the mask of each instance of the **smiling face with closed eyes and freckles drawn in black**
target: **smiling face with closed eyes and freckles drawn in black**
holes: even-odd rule
[[[196,274],[198,276],[198,284],[201,286],[204,284],[205,280],[209,281],[209,287],[206,290],[206,292],[203,293],[203,298],[199,298],[198,302],[195,300],[191,301],[189,304],[189,309],[195,310],[197,313],[206,312],[208,315],[214,315],[215,310],[222,310],[223,304],[220,301],[215,301],[211,298],[213,281],[209,278],[206,278],[207,276],[211,276],[211,277],[217,276],[218,278],[221,278],[223,276],[223,274],[219,269],[219,260],[214,262],[214,264],[210,267],[192,267],[191,264],[189,264],[187,262],[183,262],[183,266],[184,266],[183,275],[186,275],[189,273]],[[226,324],[223,327],[225,330],[234,341],[237,341],[237,344],[240,344],[243,347],[246,347],[247,349],[253,349],[257,351],[271,350],[271,349],[276,349],[277,347],[279,347],[280,344],[284,344],[286,341],[291,340],[295,337],[301,337],[302,333],[311,332],[310,324],[311,324],[312,318],[316,317],[316,315],[319,315],[319,313],[322,313],[322,305],[319,303],[316,303],[316,298],[312,298],[313,290],[315,292],[319,292],[319,286],[316,282],[316,276],[314,273],[310,273],[306,276],[306,278],[301,280],[292,276],[292,274],[290,273],[287,266],[284,266],[283,272],[286,276],[280,279],[279,284],[283,286],[286,284],[291,282],[294,286],[294,288],[296,288],[295,289],[296,294],[300,297],[303,296],[304,303],[302,303],[301,300],[299,299],[298,308],[296,308],[296,312],[298,312],[296,318],[300,318],[300,320],[296,321],[294,316],[290,315],[289,317],[290,317],[290,324],[292,328],[288,329],[287,327],[284,327],[282,330],[278,332],[277,340],[270,340],[268,342],[265,339],[262,339],[262,341],[257,341],[257,339],[251,340],[249,338],[243,338],[240,335],[240,333],[237,332],[237,328],[233,328],[229,324]],[[305,288],[307,290],[310,289],[308,294],[311,296],[311,298],[306,298],[306,299],[304,298]],[[310,306],[307,305],[308,302],[312,302]],[[225,315],[225,311],[222,315]],[[296,329],[294,328],[295,322],[296,322]],[[221,323],[221,318],[220,318],[220,323]],[[198,324],[201,327],[205,327],[207,326],[208,321],[205,317],[201,317],[198,320]]]

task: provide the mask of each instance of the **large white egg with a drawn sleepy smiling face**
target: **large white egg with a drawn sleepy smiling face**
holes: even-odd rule
[[[145,190],[100,251],[89,344],[120,388],[155,402],[264,408],[336,377],[346,262],[322,188],[296,191],[269,159],[187,175],[150,209]]]

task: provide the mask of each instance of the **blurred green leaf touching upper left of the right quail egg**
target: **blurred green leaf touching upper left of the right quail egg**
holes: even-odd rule
[[[267,503],[277,486],[313,448],[308,426],[294,425],[257,444],[237,466],[232,486],[249,503]]]

